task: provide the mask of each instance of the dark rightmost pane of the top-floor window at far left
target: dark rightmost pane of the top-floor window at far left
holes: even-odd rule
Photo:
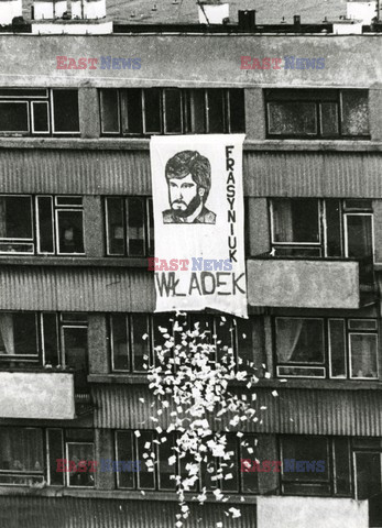
[[[78,90],[53,90],[55,132],[79,132]]]

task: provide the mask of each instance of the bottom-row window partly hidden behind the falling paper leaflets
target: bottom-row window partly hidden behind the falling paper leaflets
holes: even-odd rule
[[[175,491],[175,481],[172,475],[186,475],[185,466],[189,462],[186,458],[178,455],[174,451],[176,447],[176,433],[166,435],[167,441],[161,442],[155,431],[141,430],[137,437],[133,431],[116,431],[116,458],[120,461],[133,461],[139,463],[140,471],[118,472],[117,487],[124,490],[160,490]],[[254,437],[245,435],[242,441],[247,444],[254,444]],[[240,441],[234,433],[227,433],[227,451],[231,453],[229,461],[222,461],[209,457],[208,462],[203,463],[200,475],[193,491],[201,491],[204,486],[208,491],[221,487],[227,493],[258,493],[257,473],[240,473],[239,476],[239,446]],[[152,468],[148,466],[145,461],[151,459],[151,453],[155,453],[157,463]],[[170,464],[168,459],[175,457],[175,463]],[[150,464],[149,464],[150,465]],[[231,474],[229,480],[212,480],[208,469],[221,469],[222,474]],[[151,471],[150,471],[151,470]]]

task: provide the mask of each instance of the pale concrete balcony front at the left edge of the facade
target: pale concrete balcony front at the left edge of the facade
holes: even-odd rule
[[[0,418],[75,418],[74,374],[0,372]]]

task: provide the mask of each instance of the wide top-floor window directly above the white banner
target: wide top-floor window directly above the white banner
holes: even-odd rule
[[[100,90],[106,135],[244,132],[244,90],[129,88]]]

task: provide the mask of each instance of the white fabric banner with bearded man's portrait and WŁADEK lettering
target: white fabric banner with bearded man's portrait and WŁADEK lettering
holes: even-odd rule
[[[243,134],[153,136],[155,311],[247,315]]]

